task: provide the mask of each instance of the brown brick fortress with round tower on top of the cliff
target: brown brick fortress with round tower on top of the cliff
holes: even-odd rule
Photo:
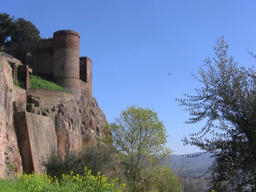
[[[60,30],[52,39],[12,43],[5,53],[28,65],[33,74],[70,91],[76,100],[81,94],[91,100],[91,60],[79,57],[80,34],[72,30]]]

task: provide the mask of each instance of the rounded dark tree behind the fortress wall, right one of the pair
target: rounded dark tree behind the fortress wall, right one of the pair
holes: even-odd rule
[[[15,29],[11,35],[11,42],[32,41],[40,39],[39,30],[24,18],[15,20]]]

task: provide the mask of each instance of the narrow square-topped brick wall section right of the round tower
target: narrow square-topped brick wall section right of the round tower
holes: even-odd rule
[[[80,84],[82,94],[89,100],[93,99],[92,69],[89,57],[80,57]]]

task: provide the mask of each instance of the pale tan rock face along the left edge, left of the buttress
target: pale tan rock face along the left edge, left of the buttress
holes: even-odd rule
[[[12,69],[0,56],[0,177],[11,178],[22,172],[22,163],[14,130],[13,104],[19,88],[12,82]],[[23,93],[26,94],[24,90]]]

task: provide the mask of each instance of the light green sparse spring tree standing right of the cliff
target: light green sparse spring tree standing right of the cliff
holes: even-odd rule
[[[163,123],[154,110],[131,106],[110,127],[129,188],[140,191],[152,176],[152,167],[161,165],[170,154]]]

